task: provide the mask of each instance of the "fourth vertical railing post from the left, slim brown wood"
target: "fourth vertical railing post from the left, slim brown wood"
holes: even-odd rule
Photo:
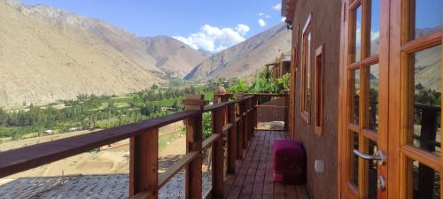
[[[228,122],[232,124],[228,133],[228,158],[227,167],[228,173],[236,173],[236,157],[237,157],[237,124],[236,124],[236,105],[235,103],[230,103],[228,105]]]

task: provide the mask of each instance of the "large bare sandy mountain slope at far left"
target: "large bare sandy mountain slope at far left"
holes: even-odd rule
[[[94,34],[54,27],[0,0],[0,107],[135,92],[158,77]]]

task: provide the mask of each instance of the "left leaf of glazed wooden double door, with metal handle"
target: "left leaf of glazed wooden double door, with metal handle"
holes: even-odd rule
[[[339,119],[339,188],[342,198],[387,198],[387,17],[383,0],[344,1]],[[362,157],[357,156],[357,154]],[[387,160],[387,158],[386,158]]]

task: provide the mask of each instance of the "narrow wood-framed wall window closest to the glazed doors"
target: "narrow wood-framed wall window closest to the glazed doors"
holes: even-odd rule
[[[323,134],[324,115],[324,45],[315,50],[314,131]]]

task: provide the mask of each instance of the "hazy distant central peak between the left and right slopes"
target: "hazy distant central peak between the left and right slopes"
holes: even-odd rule
[[[155,58],[163,72],[183,78],[206,59],[205,51],[198,51],[169,36],[146,37],[143,39],[146,51]]]

